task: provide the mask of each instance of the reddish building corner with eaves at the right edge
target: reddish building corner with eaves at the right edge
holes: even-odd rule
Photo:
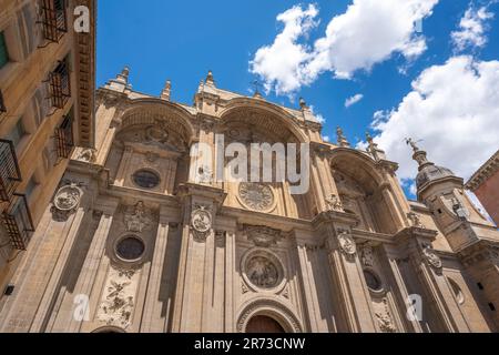
[[[480,166],[466,187],[477,195],[496,225],[499,225],[499,151]]]

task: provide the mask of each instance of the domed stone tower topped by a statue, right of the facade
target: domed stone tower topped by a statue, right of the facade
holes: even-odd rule
[[[473,205],[461,178],[427,159],[411,139],[413,159],[419,164],[416,178],[419,202],[428,206],[450,247],[472,277],[486,312],[499,327],[499,232]]]

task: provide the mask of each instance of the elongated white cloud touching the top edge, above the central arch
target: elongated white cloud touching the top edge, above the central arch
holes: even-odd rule
[[[251,71],[264,79],[267,90],[288,94],[324,72],[348,79],[394,53],[413,60],[426,50],[417,23],[431,14],[438,1],[353,0],[345,13],[330,20],[313,48],[299,44],[298,39],[315,27],[318,10],[294,7],[277,17],[284,30],[272,45],[256,52]]]

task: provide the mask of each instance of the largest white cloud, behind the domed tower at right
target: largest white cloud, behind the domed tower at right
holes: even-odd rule
[[[498,102],[499,61],[454,57],[425,70],[398,108],[377,112],[375,139],[400,163],[403,181],[417,174],[405,138],[422,140],[430,161],[469,179],[498,149]]]

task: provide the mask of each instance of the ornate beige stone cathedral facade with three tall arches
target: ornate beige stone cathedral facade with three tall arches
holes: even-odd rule
[[[243,97],[211,73],[185,105],[170,82],[133,91],[125,69],[98,90],[95,126],[1,300],[1,332],[498,329],[499,233],[413,141],[417,202],[370,136],[367,151],[340,130],[326,143],[304,101]],[[307,144],[309,189],[214,179],[220,158],[192,151],[217,135]]]

